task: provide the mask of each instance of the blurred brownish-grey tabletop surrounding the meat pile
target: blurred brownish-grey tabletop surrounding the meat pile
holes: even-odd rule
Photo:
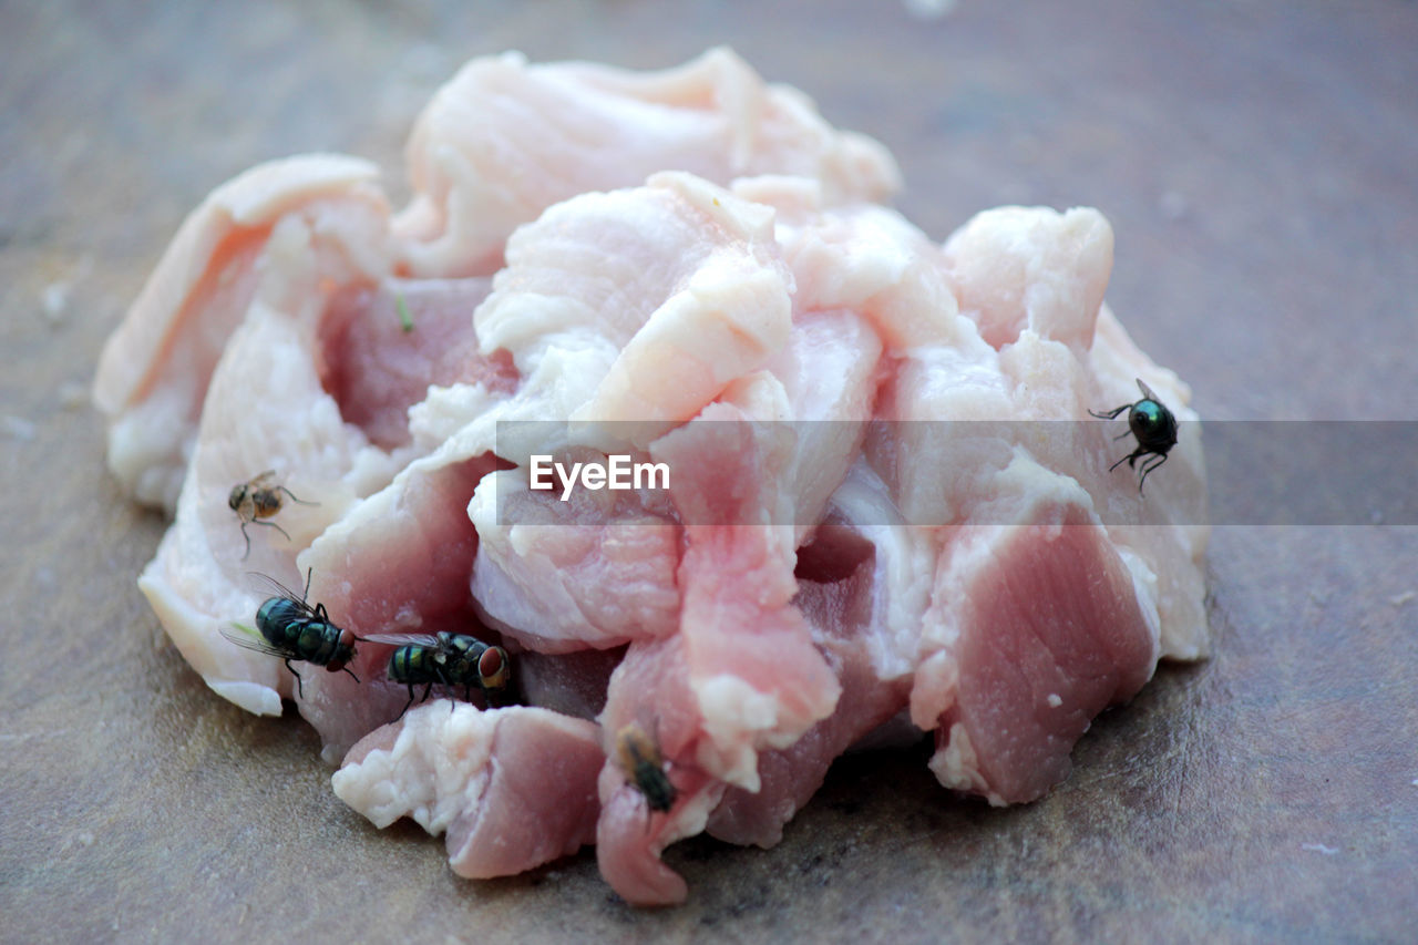
[[[854,755],[776,849],[671,847],[691,895],[659,911],[591,850],[459,880],[333,796],[292,709],[245,715],[166,643],[135,586],[164,522],[105,471],[88,386],[182,217],[305,150],[380,162],[397,204],[414,115],[472,55],[716,44],[885,142],[937,240],[1099,207],[1110,305],[1207,420],[1414,420],[1411,0],[0,0],[0,939],[1412,941],[1411,519],[1217,522],[1215,656],[1099,718],[1048,797]]]

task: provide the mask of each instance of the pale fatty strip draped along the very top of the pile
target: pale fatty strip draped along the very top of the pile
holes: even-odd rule
[[[885,148],[835,131],[727,50],[659,72],[472,60],[420,115],[406,158],[414,199],[396,231],[404,265],[424,277],[491,275],[513,230],[547,207],[665,169],[719,184],[804,175],[838,201],[899,187]]]

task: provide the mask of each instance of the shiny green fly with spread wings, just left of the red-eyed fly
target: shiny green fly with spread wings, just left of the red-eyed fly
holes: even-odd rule
[[[311,593],[311,573],[309,570],[305,572],[305,593],[299,597],[274,578],[252,575],[277,593],[275,597],[268,597],[257,610],[257,631],[259,631],[259,636],[257,636],[257,631],[241,624],[238,624],[238,629],[242,631],[241,636],[228,631],[225,627],[221,629],[221,636],[238,647],[285,660],[285,668],[295,677],[298,691],[302,697],[305,695],[305,680],[291,665],[292,660],[323,665],[330,673],[345,670],[359,682],[359,677],[346,664],[354,660],[354,644],[360,641],[360,637],[343,627],[335,626],[330,614],[325,610],[325,604],[318,603],[312,607],[306,603],[306,596]]]

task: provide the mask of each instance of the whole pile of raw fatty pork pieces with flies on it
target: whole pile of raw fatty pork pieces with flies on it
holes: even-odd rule
[[[594,843],[625,900],[675,902],[666,844],[773,846],[885,724],[930,732],[943,786],[1028,802],[1159,658],[1207,651],[1198,424],[1103,305],[1098,211],[934,243],[883,206],[881,145],[726,50],[475,60],[407,162],[398,213],[345,156],[218,187],[95,385],[115,475],[176,515],[139,580],[172,640],[242,708],[295,700],[374,823],[447,831],[468,877]],[[1146,495],[1109,472],[1126,423],[1088,416],[1139,377],[1183,421]],[[536,420],[669,488],[529,488]],[[227,499],[267,470],[301,502],[247,555]],[[356,636],[502,644],[515,698],[435,690],[394,721],[377,643],[353,674],[296,664],[296,692],[221,630],[268,596],[248,572],[308,570]]]

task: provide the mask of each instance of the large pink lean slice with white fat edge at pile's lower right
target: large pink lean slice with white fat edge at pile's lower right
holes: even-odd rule
[[[994,805],[1064,780],[1092,718],[1157,663],[1133,578],[1078,495],[1028,502],[1015,525],[957,529],[926,624],[912,718],[936,729],[940,782]]]

